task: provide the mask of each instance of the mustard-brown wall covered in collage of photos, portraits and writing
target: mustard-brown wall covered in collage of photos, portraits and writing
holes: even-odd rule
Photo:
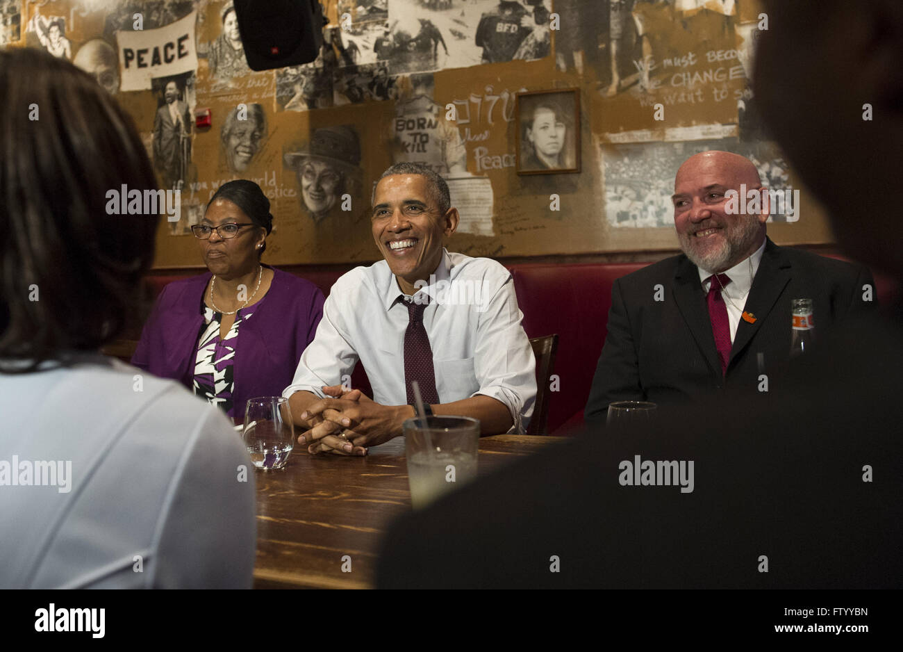
[[[160,268],[200,265],[191,225],[238,178],[271,200],[275,265],[376,260],[371,192],[404,161],[449,183],[450,247],[471,256],[675,247],[675,171],[706,149],[748,156],[768,186],[795,182],[750,89],[768,22],[756,0],[322,10],[317,59],[277,70],[250,70],[230,0],[0,0],[0,48],[72,61],[133,116],[161,187],[180,190]],[[785,242],[830,238],[805,201],[772,219]]]

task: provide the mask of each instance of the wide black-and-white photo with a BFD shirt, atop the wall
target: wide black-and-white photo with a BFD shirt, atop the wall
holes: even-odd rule
[[[392,74],[534,60],[550,53],[549,0],[392,0],[375,44]]]

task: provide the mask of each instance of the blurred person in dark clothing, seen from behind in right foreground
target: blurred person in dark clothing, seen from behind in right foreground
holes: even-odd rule
[[[899,282],[903,220],[882,191],[897,188],[903,163],[903,5],[764,5],[763,116],[838,243]],[[755,402],[588,433],[405,517],[386,536],[377,584],[900,588],[901,367],[896,303],[797,359]],[[693,461],[693,489],[662,486],[657,464],[656,486],[641,474],[637,486],[625,465],[637,455],[640,468]]]

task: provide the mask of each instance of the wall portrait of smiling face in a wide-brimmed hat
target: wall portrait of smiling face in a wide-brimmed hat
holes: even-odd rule
[[[283,160],[295,172],[301,209],[315,225],[341,214],[342,195],[360,194],[360,138],[354,126],[315,129],[308,143],[289,145]]]

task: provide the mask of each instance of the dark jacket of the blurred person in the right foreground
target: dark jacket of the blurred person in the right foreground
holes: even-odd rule
[[[377,586],[903,587],[903,312],[853,326],[768,400],[666,406],[403,517]],[[622,486],[635,455],[694,461],[694,490]]]

